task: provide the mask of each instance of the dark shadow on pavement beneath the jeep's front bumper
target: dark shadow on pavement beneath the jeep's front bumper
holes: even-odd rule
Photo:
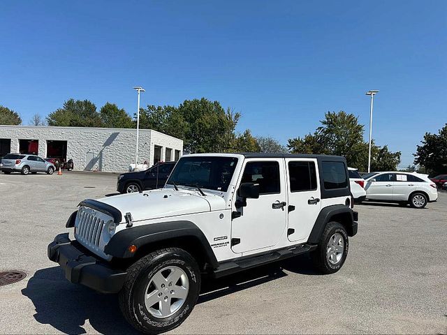
[[[69,283],[59,267],[36,271],[22,295],[33,301],[34,318],[66,334],[86,334],[82,325],[89,320],[101,334],[139,334],[119,311],[117,295],[101,295]]]

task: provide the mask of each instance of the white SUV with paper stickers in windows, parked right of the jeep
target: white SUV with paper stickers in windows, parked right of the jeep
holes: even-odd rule
[[[424,208],[438,199],[437,186],[427,174],[416,172],[373,172],[364,177],[366,199],[399,202]]]

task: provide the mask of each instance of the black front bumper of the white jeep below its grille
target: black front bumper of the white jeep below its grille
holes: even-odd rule
[[[113,269],[108,262],[99,260],[92,253],[81,249],[77,241],[68,238],[68,232],[59,234],[48,245],[48,258],[65,271],[65,278],[102,293],[121,290],[127,272]]]

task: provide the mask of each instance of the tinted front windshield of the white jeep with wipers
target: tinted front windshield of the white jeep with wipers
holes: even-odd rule
[[[198,186],[214,191],[226,192],[237,158],[219,156],[183,157],[175,165],[166,184]]]

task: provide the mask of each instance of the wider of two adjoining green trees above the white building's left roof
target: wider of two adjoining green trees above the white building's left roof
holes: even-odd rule
[[[47,116],[48,126],[101,127],[96,105],[88,100],[69,99]]]

